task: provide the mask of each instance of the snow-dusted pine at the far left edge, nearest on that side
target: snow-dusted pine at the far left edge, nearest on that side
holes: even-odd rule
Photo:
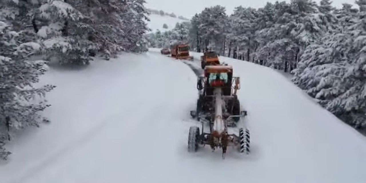
[[[45,61],[31,61],[40,45],[27,31],[14,31],[7,19],[0,16],[0,157],[6,159],[5,141],[10,130],[38,126],[43,118],[39,112],[49,105],[41,100],[55,86],[35,87],[46,71]]]

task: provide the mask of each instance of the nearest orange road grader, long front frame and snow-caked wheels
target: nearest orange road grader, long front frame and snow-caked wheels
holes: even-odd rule
[[[200,94],[197,109],[191,111],[191,116],[202,123],[202,131],[197,126],[190,127],[188,152],[196,152],[199,145],[210,145],[213,151],[221,148],[223,158],[227,146],[239,146],[240,153],[249,154],[250,134],[245,125],[239,129],[239,135],[228,134],[228,127],[236,126],[247,115],[247,111],[240,111],[236,95],[240,78],[232,74],[232,66],[206,66],[204,76],[198,78]],[[203,130],[205,122],[209,124],[209,132]]]

